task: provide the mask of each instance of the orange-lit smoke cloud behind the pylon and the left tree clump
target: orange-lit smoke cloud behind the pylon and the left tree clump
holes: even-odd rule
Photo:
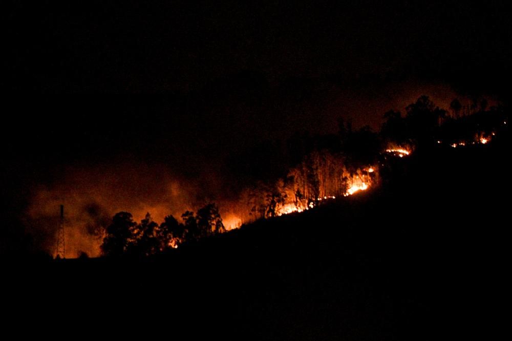
[[[29,232],[36,243],[53,254],[59,205],[65,207],[68,258],[80,251],[99,255],[103,231],[118,211],[129,211],[136,221],[150,212],[157,222],[197,205],[194,181],[173,177],[168,168],[139,164],[68,167],[63,177],[33,190],[27,211]]]

